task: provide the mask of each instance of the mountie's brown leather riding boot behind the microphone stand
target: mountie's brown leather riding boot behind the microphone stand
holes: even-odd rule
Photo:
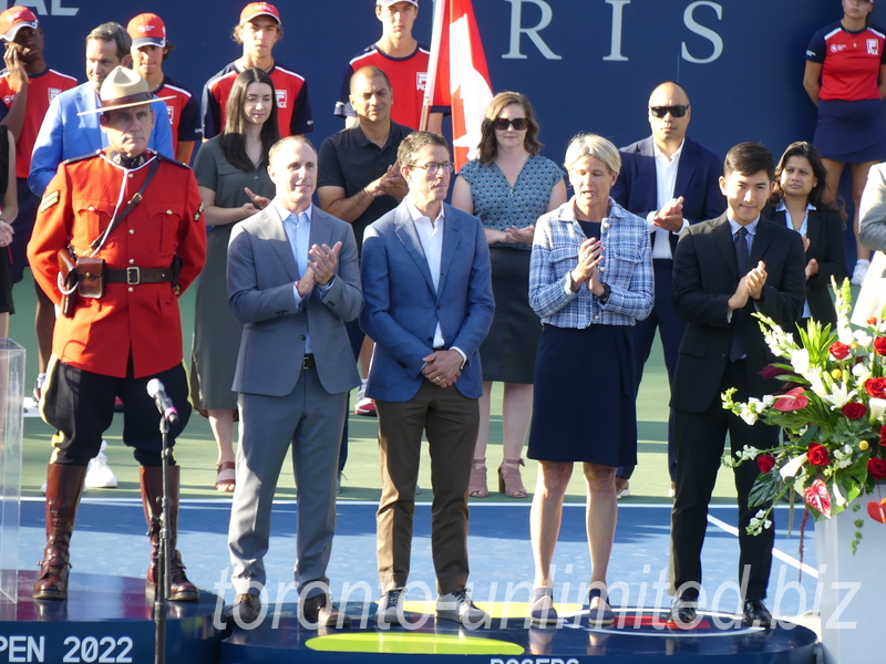
[[[174,602],[196,602],[199,593],[187,580],[182,554],[176,550],[178,535],[178,466],[169,468],[169,600]],[[147,569],[148,589],[156,591],[159,566],[159,515],[163,500],[163,468],[161,466],[141,468],[142,502],[147,520],[147,537],[151,538],[151,567]]]

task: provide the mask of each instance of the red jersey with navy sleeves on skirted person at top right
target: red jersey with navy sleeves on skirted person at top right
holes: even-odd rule
[[[806,60],[822,64],[818,98],[857,102],[879,98],[879,68],[886,63],[886,37],[868,25],[849,32],[839,22],[815,33]]]

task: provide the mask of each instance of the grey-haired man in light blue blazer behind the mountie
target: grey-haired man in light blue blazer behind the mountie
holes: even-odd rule
[[[52,100],[37,135],[28,186],[38,196],[45,193],[59,164],[107,147],[107,138],[99,127],[99,114],[94,113],[101,107],[99,90],[114,68],[130,66],[131,46],[132,38],[123,25],[113,21],[102,23],[86,37],[89,81]],[[151,110],[154,112],[154,128],[151,129],[147,147],[174,159],[166,104],[157,100],[151,104]],[[84,112],[92,113],[83,115]]]

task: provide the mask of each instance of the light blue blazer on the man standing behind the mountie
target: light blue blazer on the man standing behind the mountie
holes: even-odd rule
[[[89,82],[66,90],[52,100],[31,155],[31,172],[28,175],[31,191],[43,196],[62,162],[107,147],[107,137],[99,124],[101,113],[78,116],[78,113],[97,107],[99,95]],[[166,102],[157,100],[151,104],[151,110],[154,111],[154,128],[151,129],[147,147],[175,159]]]

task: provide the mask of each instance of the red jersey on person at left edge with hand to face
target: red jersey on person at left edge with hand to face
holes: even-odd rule
[[[21,136],[16,143],[16,177],[28,177],[31,169],[31,152],[34,148],[37,134],[40,125],[43,124],[43,116],[49,110],[49,103],[63,93],[65,90],[76,87],[78,82],[73,76],[62,74],[53,69],[47,69],[42,74],[28,76],[28,104],[24,106],[24,125],[21,128]],[[3,105],[0,106],[0,120],[7,116],[9,107],[16,95],[9,85],[9,72],[3,70],[0,73],[0,98]]]

